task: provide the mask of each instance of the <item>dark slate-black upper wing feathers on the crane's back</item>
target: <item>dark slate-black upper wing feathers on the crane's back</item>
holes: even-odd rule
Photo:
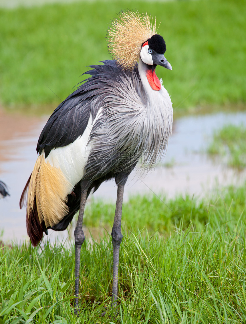
[[[84,83],[54,110],[39,136],[39,154],[44,149],[47,157],[52,148],[73,143],[84,133],[90,115],[95,118],[105,95],[105,86],[112,80],[112,74],[114,81],[117,81],[120,75],[115,61],[107,60],[103,63],[90,66],[93,69],[84,74],[91,77],[84,80]],[[93,106],[95,102],[96,105]]]

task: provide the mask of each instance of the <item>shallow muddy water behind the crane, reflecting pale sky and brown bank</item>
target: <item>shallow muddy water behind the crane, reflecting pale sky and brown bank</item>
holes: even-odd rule
[[[38,137],[47,119],[48,116],[27,117],[0,110],[0,179],[6,182],[11,194],[0,200],[2,239],[17,242],[28,239],[25,211],[19,209],[18,203],[36,161]],[[140,169],[132,172],[124,199],[137,193],[158,195],[160,192],[169,197],[177,193],[204,196],[211,195],[215,186],[243,183],[246,172],[238,174],[202,153],[213,131],[228,123],[246,125],[246,113],[216,113],[176,120],[165,158],[148,173]],[[109,181],[102,184],[94,196],[115,202],[116,192],[114,181]],[[49,230],[50,240],[56,237],[67,237],[67,232]]]

